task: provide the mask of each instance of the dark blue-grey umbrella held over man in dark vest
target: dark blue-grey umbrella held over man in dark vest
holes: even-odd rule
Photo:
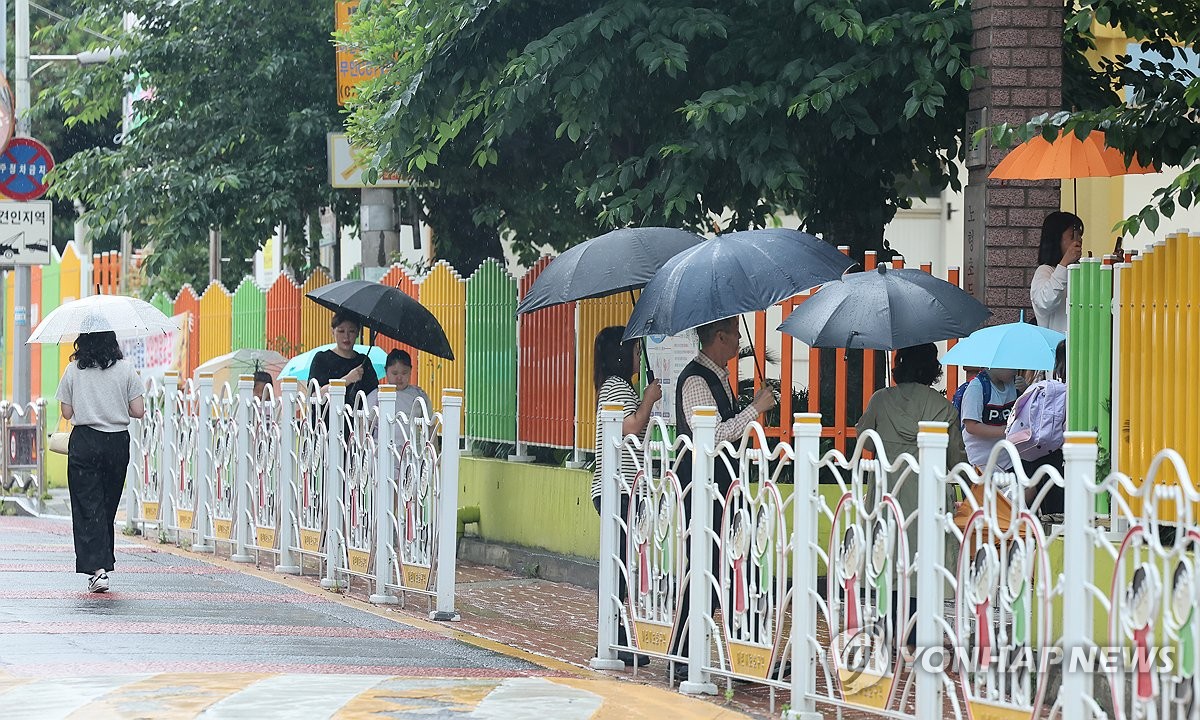
[[[828,242],[787,229],[719,235],[676,257],[642,289],[625,340],[676,335],[838,280],[853,260]]]

